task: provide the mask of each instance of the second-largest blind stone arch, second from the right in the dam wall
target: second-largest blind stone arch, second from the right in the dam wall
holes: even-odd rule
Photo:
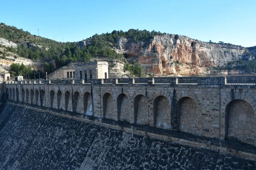
[[[177,102],[177,125],[180,132],[197,134],[198,106],[194,99],[182,97]]]

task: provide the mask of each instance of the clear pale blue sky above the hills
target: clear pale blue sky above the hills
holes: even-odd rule
[[[256,45],[256,0],[2,0],[0,22],[61,42],[138,28]]]

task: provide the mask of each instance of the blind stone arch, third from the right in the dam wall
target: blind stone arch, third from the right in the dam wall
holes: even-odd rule
[[[166,96],[157,96],[153,103],[154,126],[161,129],[171,129],[171,107]]]

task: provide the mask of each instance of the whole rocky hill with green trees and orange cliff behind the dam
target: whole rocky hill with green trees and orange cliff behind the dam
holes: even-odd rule
[[[210,59],[218,74],[221,71],[226,74],[227,68],[235,68],[236,61],[241,60],[244,62],[239,63],[239,68],[256,71],[256,64],[250,65],[254,63],[250,60],[255,60],[256,47],[244,48],[223,42],[202,42],[186,36],[157,31],[113,31],[95,34],[80,42],[63,43],[31,35],[22,29],[0,23],[0,45],[0,57],[3,59],[6,59],[4,51],[9,51],[11,57],[24,57],[44,63],[40,69],[49,73],[70,62],[86,62],[91,59],[120,61],[117,62],[117,66],[112,65],[110,68],[115,72],[120,68],[126,68],[127,63],[139,63],[143,69],[143,76],[209,74]],[[134,71],[130,71],[132,76]]]

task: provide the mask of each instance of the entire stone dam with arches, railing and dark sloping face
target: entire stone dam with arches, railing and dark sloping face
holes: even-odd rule
[[[6,82],[0,169],[255,170],[255,82]]]

